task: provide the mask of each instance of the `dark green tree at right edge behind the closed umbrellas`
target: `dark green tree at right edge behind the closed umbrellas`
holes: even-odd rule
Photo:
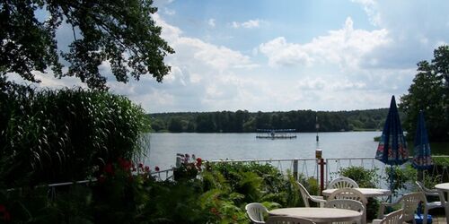
[[[447,73],[449,47],[438,47],[432,63],[418,63],[418,73],[401,97],[400,108],[405,113],[404,126],[410,136],[415,136],[419,110],[424,110],[427,132],[431,141],[449,141],[449,112]],[[445,80],[446,79],[446,80]]]

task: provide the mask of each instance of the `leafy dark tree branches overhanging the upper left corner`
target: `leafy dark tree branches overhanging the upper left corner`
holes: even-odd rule
[[[174,53],[160,35],[152,14],[152,0],[25,0],[0,3],[0,78],[18,73],[39,82],[32,71],[51,69],[58,78],[75,76],[90,88],[107,89],[99,71],[109,61],[119,82],[152,74],[157,82],[170,72],[164,56]],[[37,12],[48,14],[43,21]],[[57,53],[57,29],[63,22],[73,29],[68,52]],[[70,65],[63,72],[62,56]]]

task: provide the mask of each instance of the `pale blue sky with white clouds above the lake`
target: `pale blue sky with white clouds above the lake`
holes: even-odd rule
[[[175,54],[151,75],[110,91],[147,113],[388,108],[407,94],[417,63],[449,42],[449,1],[154,0]],[[58,45],[72,30],[57,32]],[[85,86],[35,73],[40,87]],[[399,100],[398,100],[399,101]]]

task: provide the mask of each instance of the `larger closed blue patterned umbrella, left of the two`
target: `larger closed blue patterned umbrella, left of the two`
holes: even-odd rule
[[[394,96],[392,96],[381,140],[375,153],[375,159],[387,165],[401,165],[409,159],[407,142],[402,132],[401,120],[399,119]]]

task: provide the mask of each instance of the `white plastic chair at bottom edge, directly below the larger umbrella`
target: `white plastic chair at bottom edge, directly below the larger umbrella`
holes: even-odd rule
[[[413,192],[409,194],[404,194],[397,202],[394,203],[381,203],[379,207],[379,212],[377,213],[377,218],[382,219],[385,215],[385,208],[393,207],[395,205],[401,204],[401,209],[403,210],[402,221],[415,221],[415,211],[418,209],[419,202],[424,202],[425,195],[422,192]],[[427,216],[426,216],[427,217]]]

